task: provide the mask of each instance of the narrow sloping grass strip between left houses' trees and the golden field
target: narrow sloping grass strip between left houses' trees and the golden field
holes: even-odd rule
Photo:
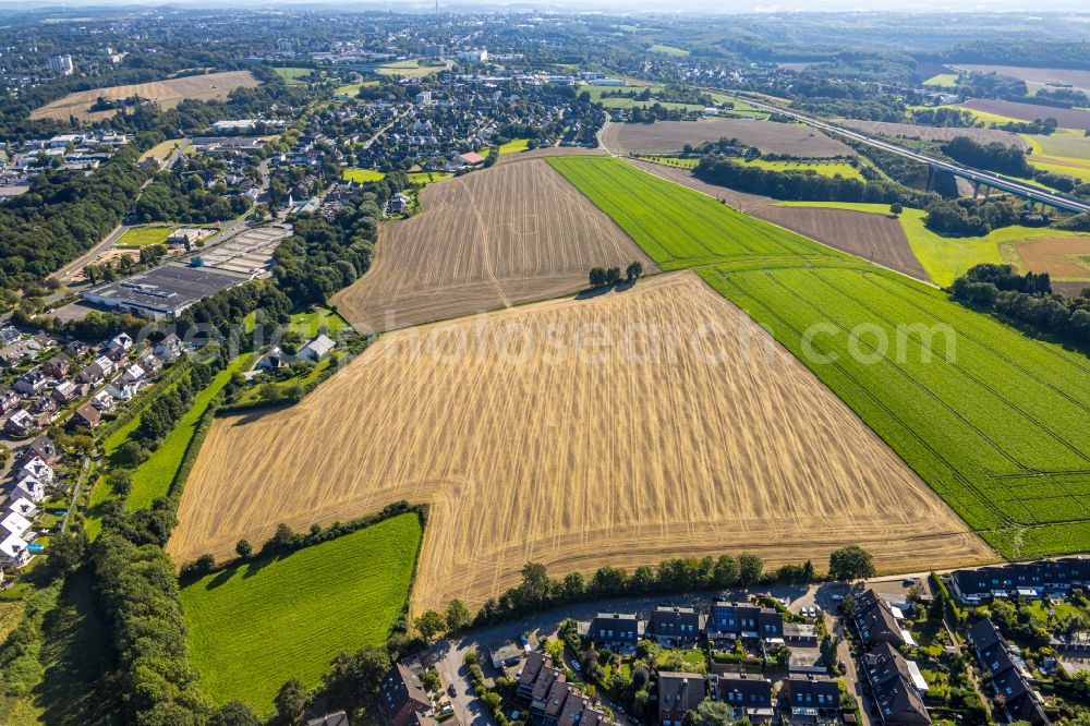
[[[147,461],[142,463],[133,472],[132,489],[125,498],[125,508],[130,511],[147,509],[158,497],[165,497],[170,492],[170,486],[174,482],[185,457],[185,450],[193,440],[201,418],[208,410],[208,404],[216,397],[223,386],[231,379],[231,375],[242,370],[242,364],[250,358],[243,354],[231,361],[225,370],[216,374],[211,383],[193,397],[193,406],[182,414],[178,424],[167,434]]]

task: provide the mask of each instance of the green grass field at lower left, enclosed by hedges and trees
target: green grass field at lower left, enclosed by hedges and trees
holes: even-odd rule
[[[268,713],[288,678],[316,686],[338,652],[385,642],[409,597],[421,535],[416,515],[400,515],[183,588],[204,692]]]

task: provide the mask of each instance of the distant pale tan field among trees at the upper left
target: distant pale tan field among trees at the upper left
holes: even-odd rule
[[[92,111],[90,107],[101,97],[109,100],[120,100],[140,96],[156,101],[162,108],[173,108],[184,98],[194,100],[226,100],[227,95],[235,88],[253,88],[259,82],[250,71],[226,71],[223,73],[207,73],[205,75],[187,75],[168,81],[153,83],[135,83],[126,86],[109,88],[92,88],[69,94],[51,104],[31,111],[31,119],[56,119],[68,121],[75,117],[81,121],[99,121],[118,113],[118,109]]]

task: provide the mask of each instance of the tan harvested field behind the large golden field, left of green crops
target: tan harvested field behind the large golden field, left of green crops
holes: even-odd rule
[[[595,266],[657,270],[617,225],[541,159],[421,193],[425,211],[379,229],[375,264],[334,297],[358,330],[446,319],[574,292]]]

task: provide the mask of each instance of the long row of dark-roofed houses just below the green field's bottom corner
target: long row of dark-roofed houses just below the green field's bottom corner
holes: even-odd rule
[[[955,570],[949,584],[953,594],[969,604],[1014,595],[1037,600],[1049,592],[1066,593],[1071,588],[1090,585],[1090,557]]]

